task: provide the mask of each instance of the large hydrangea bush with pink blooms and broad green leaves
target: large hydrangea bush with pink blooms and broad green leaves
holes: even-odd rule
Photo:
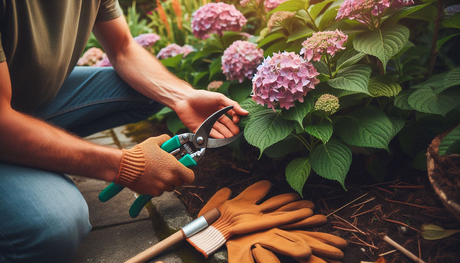
[[[157,0],[151,23],[132,10],[127,19],[176,76],[250,112],[240,125],[251,146],[241,147],[287,158],[299,193],[313,172],[345,188],[352,159],[376,181],[394,160],[424,169],[431,139],[460,122],[454,1],[232,2]],[[89,54],[85,64],[110,65]],[[174,112],[163,117],[173,134],[183,129]]]

